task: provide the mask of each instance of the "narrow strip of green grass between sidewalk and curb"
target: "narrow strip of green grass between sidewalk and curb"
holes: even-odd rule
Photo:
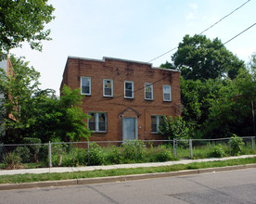
[[[67,179],[96,178],[107,176],[119,176],[130,174],[154,173],[154,172],[176,172],[182,170],[206,169],[214,167],[235,166],[256,163],[256,157],[247,159],[228,159],[224,161],[194,162],[190,164],[175,164],[172,166],[147,167],[134,169],[96,170],[92,172],[62,172],[42,174],[16,174],[1,175],[0,184],[20,184],[42,181],[58,181]]]

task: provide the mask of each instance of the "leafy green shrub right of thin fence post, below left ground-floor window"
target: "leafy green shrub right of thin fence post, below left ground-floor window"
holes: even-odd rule
[[[106,163],[103,150],[96,143],[90,143],[88,154],[90,165],[103,165]]]

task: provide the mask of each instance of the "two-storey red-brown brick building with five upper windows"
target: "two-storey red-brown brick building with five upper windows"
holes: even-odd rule
[[[60,89],[81,87],[91,141],[161,139],[164,115],[180,115],[180,72],[147,62],[68,57]]]

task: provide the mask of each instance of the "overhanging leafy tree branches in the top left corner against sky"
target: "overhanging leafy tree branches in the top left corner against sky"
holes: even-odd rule
[[[48,0],[0,1],[0,54],[28,42],[32,49],[42,50],[41,41],[50,40],[45,24],[55,17]],[[1,55],[3,57],[3,55]]]

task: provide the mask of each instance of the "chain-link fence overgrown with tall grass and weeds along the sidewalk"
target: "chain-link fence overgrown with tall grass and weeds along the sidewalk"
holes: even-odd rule
[[[255,154],[255,137],[0,144],[0,169],[67,167]]]

